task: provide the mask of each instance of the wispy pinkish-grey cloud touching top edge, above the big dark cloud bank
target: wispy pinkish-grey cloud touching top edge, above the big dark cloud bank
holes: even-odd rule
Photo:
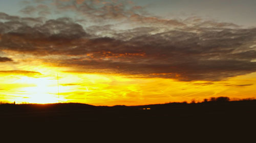
[[[68,2],[54,1],[56,9],[60,12],[74,11],[91,20],[102,21],[104,19],[123,19],[134,13],[143,12],[142,8],[133,7],[129,1],[103,1],[89,0],[78,3],[76,0]]]

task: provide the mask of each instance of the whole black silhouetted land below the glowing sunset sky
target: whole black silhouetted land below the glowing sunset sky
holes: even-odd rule
[[[93,106],[80,103],[0,104],[2,136],[78,137],[134,142],[188,137],[219,141],[254,136],[256,100],[218,97],[200,103]],[[181,136],[181,137],[180,137]],[[72,139],[73,140],[73,139]],[[138,141],[138,140],[137,140]],[[152,141],[152,140],[151,140]],[[223,141],[223,140],[222,140]],[[229,140],[230,141],[230,140]],[[136,142],[136,141],[135,141]]]

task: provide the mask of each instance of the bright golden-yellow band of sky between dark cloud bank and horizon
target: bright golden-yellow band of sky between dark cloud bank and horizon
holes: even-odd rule
[[[227,96],[256,97],[256,73],[223,81],[176,81],[115,74],[61,72],[50,67],[26,70],[41,75],[1,74],[0,101],[16,103],[79,102],[92,105],[141,105]],[[59,76],[59,97],[57,74]]]

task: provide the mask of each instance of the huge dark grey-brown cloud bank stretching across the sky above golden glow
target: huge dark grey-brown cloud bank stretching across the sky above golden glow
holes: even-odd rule
[[[256,71],[256,28],[209,21],[205,26],[199,20],[163,31],[156,26],[122,31],[113,25],[91,26],[89,35],[70,18],[32,25],[2,15],[9,20],[0,23],[1,50],[40,56],[76,71],[183,81],[216,81]]]

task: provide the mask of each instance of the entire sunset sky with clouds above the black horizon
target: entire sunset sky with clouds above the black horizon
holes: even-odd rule
[[[256,1],[2,0],[0,102],[256,97]]]

